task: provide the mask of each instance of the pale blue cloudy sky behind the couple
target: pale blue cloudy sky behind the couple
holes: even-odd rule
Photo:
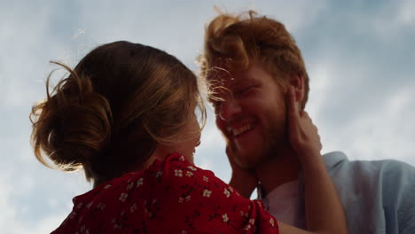
[[[322,152],[415,165],[415,2],[5,1],[0,0],[0,232],[49,233],[89,191],[82,172],[43,167],[29,143],[28,113],[45,98],[58,60],[74,66],[102,43],[160,48],[198,72],[204,27],[216,12],[255,10],[294,35],[309,77],[306,110]],[[195,162],[229,181],[224,142],[208,108]]]

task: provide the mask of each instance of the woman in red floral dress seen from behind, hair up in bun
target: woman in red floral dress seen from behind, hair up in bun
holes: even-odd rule
[[[70,74],[31,113],[35,156],[51,168],[82,168],[94,189],[74,198],[52,233],[279,233],[278,224],[281,233],[309,233],[277,223],[261,202],[193,166],[200,144],[194,111],[202,122],[206,113],[197,78],[176,58],[115,42],[90,51],[74,70],[59,65]],[[293,116],[312,139],[296,145],[319,151],[317,129],[306,115]],[[336,224],[319,228],[328,225]]]

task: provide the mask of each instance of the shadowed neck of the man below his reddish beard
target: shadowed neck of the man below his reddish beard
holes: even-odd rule
[[[277,152],[276,157],[255,168],[264,196],[278,186],[298,179],[300,161],[291,148]]]

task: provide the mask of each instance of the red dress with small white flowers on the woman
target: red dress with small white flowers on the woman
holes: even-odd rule
[[[52,233],[278,233],[258,200],[174,153],[74,198]]]

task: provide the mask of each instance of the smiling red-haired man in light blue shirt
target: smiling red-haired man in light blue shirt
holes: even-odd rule
[[[216,125],[227,141],[230,184],[259,198],[280,221],[305,228],[301,163],[289,144],[286,92],[303,109],[309,77],[301,51],[283,24],[254,12],[212,20],[200,57]],[[324,156],[350,233],[415,233],[415,168],[395,160],[349,161]],[[316,214],[318,215],[318,214]]]

